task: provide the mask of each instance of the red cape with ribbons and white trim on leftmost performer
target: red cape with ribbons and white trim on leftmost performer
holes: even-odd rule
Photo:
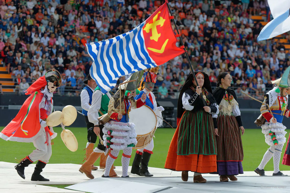
[[[40,91],[30,95],[16,117],[1,131],[0,138],[6,141],[33,142],[41,128],[39,103],[43,96]]]

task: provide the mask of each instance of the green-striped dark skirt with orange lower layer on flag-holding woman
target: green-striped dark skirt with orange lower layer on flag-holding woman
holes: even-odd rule
[[[165,168],[199,173],[216,172],[217,147],[212,116],[185,111],[169,146]]]

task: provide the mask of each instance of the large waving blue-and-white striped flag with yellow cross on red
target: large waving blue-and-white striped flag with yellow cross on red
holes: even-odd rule
[[[86,44],[93,59],[90,75],[106,93],[119,77],[153,68],[184,53],[177,47],[166,3],[146,21],[115,38]]]

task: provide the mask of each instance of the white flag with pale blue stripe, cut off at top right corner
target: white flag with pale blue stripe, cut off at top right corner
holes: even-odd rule
[[[290,31],[290,0],[268,0],[273,20],[261,30],[257,40],[267,40]]]

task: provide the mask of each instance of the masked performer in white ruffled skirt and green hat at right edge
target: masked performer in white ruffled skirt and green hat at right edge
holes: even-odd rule
[[[271,157],[273,157],[274,164],[273,176],[285,176],[280,172],[279,164],[282,148],[286,142],[285,134],[287,133],[282,120],[284,115],[289,117],[289,110],[287,109],[288,94],[290,94],[289,71],[290,67],[285,70],[281,78],[272,81],[275,87],[264,96],[264,103],[269,105],[274,117],[269,112],[267,105],[262,104],[260,109],[262,116],[266,119],[266,122],[261,126],[262,133],[265,134],[265,141],[270,146],[260,165],[255,169],[255,172],[260,176],[265,176],[264,167]]]

